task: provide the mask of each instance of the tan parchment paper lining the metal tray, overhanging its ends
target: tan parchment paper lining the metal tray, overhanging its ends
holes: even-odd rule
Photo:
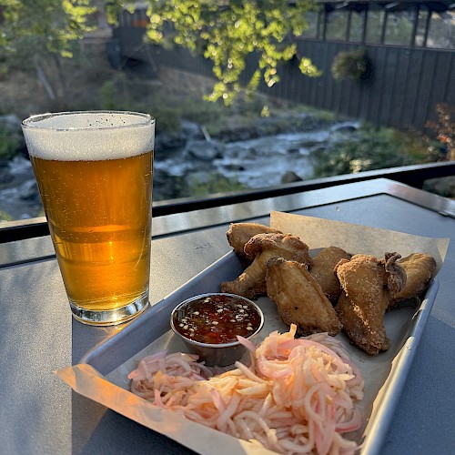
[[[372,254],[379,258],[386,251],[397,251],[402,257],[413,252],[429,253],[436,259],[438,270],[444,262],[449,246],[448,238],[422,238],[397,231],[282,212],[270,214],[270,226],[298,236],[308,244],[310,249],[337,246],[353,254]],[[263,308],[266,324],[260,336],[255,339],[257,343],[272,330],[278,329],[281,332],[288,330],[287,326],[279,319],[274,305],[270,303],[268,298],[259,298],[258,304]],[[384,393],[382,386],[389,376],[392,364],[399,358],[402,349],[406,349],[410,342],[410,339],[406,339],[406,334],[414,313],[414,309],[402,308],[386,314],[384,325],[390,339],[390,349],[379,354],[379,356],[371,357],[360,349],[350,346],[344,334],[338,336],[345,342],[351,359],[359,366],[365,378],[365,398],[360,404],[364,425],[358,431],[350,433],[349,439],[361,442],[362,436],[368,433],[368,420],[374,412],[374,401]],[[77,393],[115,410],[151,430],[165,434],[201,454],[212,455],[215,441],[219,455],[273,453],[248,441],[238,440],[220,431],[186,420],[175,412],[161,410],[147,400],[136,397],[129,392],[126,379],[129,371],[136,368],[139,359],[161,349],[172,352],[184,350],[184,347],[169,331],[106,377],[86,364],[60,369],[56,371],[56,375]]]

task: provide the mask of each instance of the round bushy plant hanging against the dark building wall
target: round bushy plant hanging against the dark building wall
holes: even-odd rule
[[[352,51],[340,52],[333,59],[331,71],[336,80],[360,82],[369,76],[370,62],[367,52],[359,47]]]

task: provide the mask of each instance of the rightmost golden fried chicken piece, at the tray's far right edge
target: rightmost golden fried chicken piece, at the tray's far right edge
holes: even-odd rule
[[[397,264],[406,272],[406,284],[391,296],[389,308],[400,301],[418,297],[427,288],[436,271],[436,260],[426,253],[412,253],[406,258],[400,258]]]

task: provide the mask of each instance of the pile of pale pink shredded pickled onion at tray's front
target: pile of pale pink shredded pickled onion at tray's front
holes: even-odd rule
[[[358,430],[363,379],[339,340],[272,332],[251,351],[251,366],[211,376],[197,356],[160,352],[139,362],[131,390],[189,420],[278,453],[354,453],[342,435]]]

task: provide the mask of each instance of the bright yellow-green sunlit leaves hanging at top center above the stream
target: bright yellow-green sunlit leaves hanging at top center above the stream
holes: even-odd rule
[[[176,45],[200,52],[213,63],[217,84],[208,99],[230,104],[242,81],[247,94],[279,81],[279,65],[298,58],[302,74],[319,76],[308,58],[298,56],[293,42],[308,25],[306,13],[315,9],[313,0],[147,0],[152,43]],[[169,25],[172,25],[169,27]],[[257,66],[246,75],[247,62]],[[249,79],[248,79],[249,77]],[[247,80],[246,80],[247,78]]]

